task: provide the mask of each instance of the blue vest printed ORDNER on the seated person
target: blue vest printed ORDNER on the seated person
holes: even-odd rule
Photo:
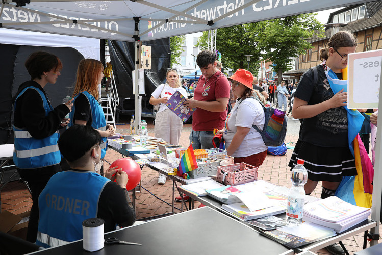
[[[82,239],[82,222],[97,217],[99,197],[108,182],[94,172],[53,175],[38,198],[36,244],[48,248]]]

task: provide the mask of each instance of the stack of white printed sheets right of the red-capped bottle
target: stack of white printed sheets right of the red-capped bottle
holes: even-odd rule
[[[340,233],[366,220],[370,213],[370,208],[354,206],[331,196],[305,205],[303,220],[333,228]]]

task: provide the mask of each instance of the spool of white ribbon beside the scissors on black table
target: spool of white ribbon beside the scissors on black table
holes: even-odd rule
[[[83,248],[86,251],[97,251],[104,248],[104,220],[90,218],[82,222]]]

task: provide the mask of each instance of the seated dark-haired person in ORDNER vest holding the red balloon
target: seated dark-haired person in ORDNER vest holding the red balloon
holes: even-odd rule
[[[37,245],[54,247],[82,239],[82,222],[89,218],[103,219],[105,232],[115,230],[116,224],[134,223],[128,175],[115,168],[109,168],[106,177],[94,172],[101,143],[99,132],[88,125],[74,125],[61,135],[58,146],[71,169],[53,175],[40,194]]]

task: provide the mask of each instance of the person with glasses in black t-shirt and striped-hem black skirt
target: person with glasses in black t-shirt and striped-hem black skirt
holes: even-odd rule
[[[318,82],[314,84],[313,71],[305,72],[297,86],[293,117],[303,119],[299,139],[289,162],[291,169],[297,159],[305,161],[308,182],[305,192],[311,194],[322,181],[321,198],[333,196],[342,176],[356,175],[354,157],[348,146],[347,92],[334,94],[325,70],[332,70],[342,79],[347,67],[347,55],[355,52],[357,41],[349,31],[334,34],[327,46],[320,50],[322,63],[317,66]],[[327,247],[332,254],[345,254],[337,244]]]

